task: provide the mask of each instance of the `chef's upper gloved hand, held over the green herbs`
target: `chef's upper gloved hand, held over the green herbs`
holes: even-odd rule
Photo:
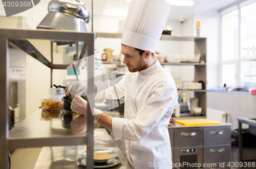
[[[67,85],[65,91],[67,92],[67,96],[71,94],[72,98],[74,98],[75,95],[80,96],[87,91],[87,80],[71,82]]]

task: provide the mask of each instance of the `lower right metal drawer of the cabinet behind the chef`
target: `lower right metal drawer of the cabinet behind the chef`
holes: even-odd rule
[[[204,146],[204,163],[231,161],[231,145]]]

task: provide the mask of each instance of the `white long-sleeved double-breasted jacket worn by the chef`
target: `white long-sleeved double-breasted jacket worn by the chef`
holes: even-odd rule
[[[173,77],[156,60],[119,78],[115,89],[107,88],[109,81],[95,82],[95,98],[125,98],[124,118],[112,118],[114,139],[125,140],[126,158],[134,168],[172,168],[167,126],[178,102]]]

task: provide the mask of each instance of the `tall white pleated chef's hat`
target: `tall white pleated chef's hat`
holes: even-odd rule
[[[132,0],[121,44],[154,53],[169,15],[164,0]]]

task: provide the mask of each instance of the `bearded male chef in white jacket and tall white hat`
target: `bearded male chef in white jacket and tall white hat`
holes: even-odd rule
[[[126,158],[138,169],[172,168],[167,126],[177,105],[177,89],[173,77],[153,56],[169,9],[164,0],[132,1],[121,40],[129,71],[114,87],[95,82],[95,99],[125,97],[124,118],[112,118],[96,108],[94,114],[99,124],[113,131],[115,140],[124,139]],[[67,94],[75,88],[74,83],[68,85]],[[71,109],[86,115],[87,104],[75,96]]]

